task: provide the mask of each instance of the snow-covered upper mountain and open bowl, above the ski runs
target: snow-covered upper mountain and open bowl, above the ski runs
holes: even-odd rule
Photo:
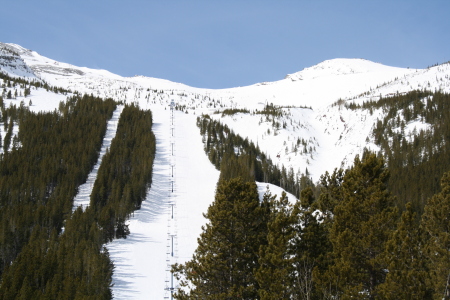
[[[0,54],[1,71],[11,76],[44,80],[51,86],[137,102],[150,108],[168,105],[173,99],[187,113],[208,113],[220,119],[236,133],[257,143],[279,165],[301,173],[308,169],[315,180],[325,171],[348,165],[364,147],[377,149],[371,130],[382,112],[351,111],[342,104],[362,103],[415,89],[450,92],[448,63],[427,69],[405,69],[364,59],[332,59],[279,81],[212,90],[77,67],[15,44],[0,43]],[[61,97],[49,101],[44,95],[32,92],[29,98],[35,108],[53,110],[61,101]],[[45,102],[38,105],[41,101]],[[333,105],[338,101],[341,105]],[[252,113],[220,114],[226,108],[253,112],[270,103],[283,107],[284,115],[266,120]],[[283,126],[274,128],[275,123]],[[306,151],[294,151],[298,139],[307,141]]]

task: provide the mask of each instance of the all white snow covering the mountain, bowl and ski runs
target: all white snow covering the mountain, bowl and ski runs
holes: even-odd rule
[[[152,110],[157,139],[152,187],[141,210],[128,221],[129,237],[107,245],[116,266],[113,278],[116,299],[163,299],[168,296],[165,290],[166,280],[170,279],[168,264],[189,260],[197,246],[201,226],[207,221],[202,214],[214,200],[219,176],[203,151],[199,129],[195,125],[198,115],[210,114],[236,134],[257,144],[279,166],[292,168],[297,173],[305,173],[308,169],[312,179],[317,181],[325,171],[350,166],[354,156],[362,153],[364,147],[379,150],[371,133],[377,120],[384,118],[384,112],[381,109],[372,112],[350,110],[345,103],[362,104],[380,96],[415,89],[450,92],[449,63],[427,69],[405,69],[363,59],[332,59],[279,81],[211,90],[164,79],[122,77],[106,70],[77,67],[19,45],[0,43],[0,70],[13,77],[40,78],[53,86],[126,103],[135,102]],[[23,100],[28,105],[31,100],[32,111],[53,111],[67,96],[70,94],[32,88],[29,97],[4,99],[4,102],[5,105],[20,105]],[[171,136],[171,100],[184,110],[175,112],[174,137]],[[336,103],[338,100],[339,104]],[[222,116],[220,113],[225,108],[246,108],[254,112],[270,103],[283,107],[282,117],[266,120],[259,114]],[[215,111],[219,113],[215,114]],[[116,111],[108,123],[102,153],[115,135],[119,113]],[[273,127],[274,121],[280,124],[278,129]],[[422,120],[405,125],[406,134],[414,129],[431,129],[430,124]],[[3,130],[1,134],[4,136]],[[300,151],[302,145],[294,151],[298,139],[306,141],[306,152]],[[76,206],[88,203],[95,168],[86,186],[80,187]],[[266,187],[266,183],[258,183],[260,196]],[[280,188],[269,187],[272,194],[281,195]],[[290,201],[295,201],[295,197],[289,197]],[[174,219],[170,204],[174,204]],[[173,257],[171,251],[167,255],[172,235]]]

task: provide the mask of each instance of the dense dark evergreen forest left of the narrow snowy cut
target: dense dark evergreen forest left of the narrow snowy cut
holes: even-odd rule
[[[35,114],[26,107],[4,109],[3,121],[18,123],[19,133],[0,160],[2,298],[12,299],[22,288],[26,294],[29,288],[41,290],[58,274],[55,265],[36,268],[36,264],[50,258],[47,251],[56,251],[52,242],[62,238],[73,197],[97,160],[115,105],[112,100],[74,96],[53,113]],[[66,235],[69,228],[66,225]],[[62,267],[66,257],[59,258]]]

